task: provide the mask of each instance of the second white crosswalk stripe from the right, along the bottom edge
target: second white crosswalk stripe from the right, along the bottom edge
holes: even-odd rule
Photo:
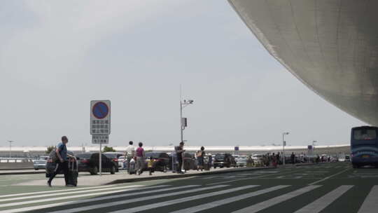
[[[331,191],[330,193],[327,193],[326,195],[323,195],[323,197],[318,198],[318,200],[315,200],[314,202],[311,202],[309,205],[302,207],[302,209],[297,210],[295,213],[321,212],[321,210],[323,210],[325,207],[330,205],[333,201],[335,201],[341,195],[346,193],[346,191],[348,191],[352,187],[353,186],[350,186],[350,185],[339,186],[338,188]]]

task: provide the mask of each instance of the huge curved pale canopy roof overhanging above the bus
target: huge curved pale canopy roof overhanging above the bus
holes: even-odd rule
[[[378,1],[229,1],[300,81],[339,109],[378,125]]]

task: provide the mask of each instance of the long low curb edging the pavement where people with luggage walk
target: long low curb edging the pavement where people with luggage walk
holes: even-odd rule
[[[253,168],[241,168],[241,169],[232,169],[232,170],[224,170],[224,171],[213,171],[213,172],[202,172],[202,173],[195,173],[195,174],[171,174],[167,176],[158,176],[158,177],[139,177],[139,178],[130,178],[130,179],[117,179],[111,181],[109,184],[124,184],[124,183],[131,183],[131,182],[139,182],[139,181],[151,181],[151,180],[159,180],[159,179],[179,179],[184,177],[196,177],[196,176],[206,176],[206,175],[214,175],[214,174],[226,174],[232,172],[246,172],[246,171],[254,171],[254,170],[269,170],[274,169],[274,167],[253,167]]]

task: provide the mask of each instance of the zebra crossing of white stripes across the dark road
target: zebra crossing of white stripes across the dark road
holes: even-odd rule
[[[337,212],[335,204],[353,193],[353,185],[109,185],[0,195],[0,213],[13,212],[269,212],[290,202],[295,213]],[[298,200],[300,202],[293,202]],[[358,213],[376,212],[378,186],[360,199]],[[263,198],[263,199],[262,199]],[[353,200],[351,200],[353,202]],[[235,205],[236,204],[236,205]],[[339,202],[338,205],[340,205]],[[283,211],[285,212],[285,211]]]

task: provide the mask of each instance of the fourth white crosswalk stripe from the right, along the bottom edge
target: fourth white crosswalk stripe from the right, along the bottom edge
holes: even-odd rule
[[[246,193],[244,195],[238,195],[238,196],[235,196],[235,197],[232,197],[232,198],[227,198],[227,199],[223,199],[223,200],[216,200],[214,202],[209,202],[209,203],[206,203],[204,205],[197,205],[195,207],[189,207],[187,209],[180,209],[178,211],[171,212],[171,213],[200,212],[202,210],[211,209],[211,208],[218,207],[218,206],[221,206],[221,205],[225,205],[225,204],[228,204],[228,203],[231,203],[231,202],[237,202],[239,200],[243,200],[243,199],[246,199],[246,198],[251,198],[251,197],[254,197],[254,196],[262,195],[264,193],[269,193],[271,191],[276,191],[276,190],[279,190],[281,188],[285,188],[285,187],[288,187],[288,186],[289,185],[273,186],[271,188],[265,188],[265,189],[262,189],[262,190],[259,190],[259,191],[253,191],[251,193]]]

